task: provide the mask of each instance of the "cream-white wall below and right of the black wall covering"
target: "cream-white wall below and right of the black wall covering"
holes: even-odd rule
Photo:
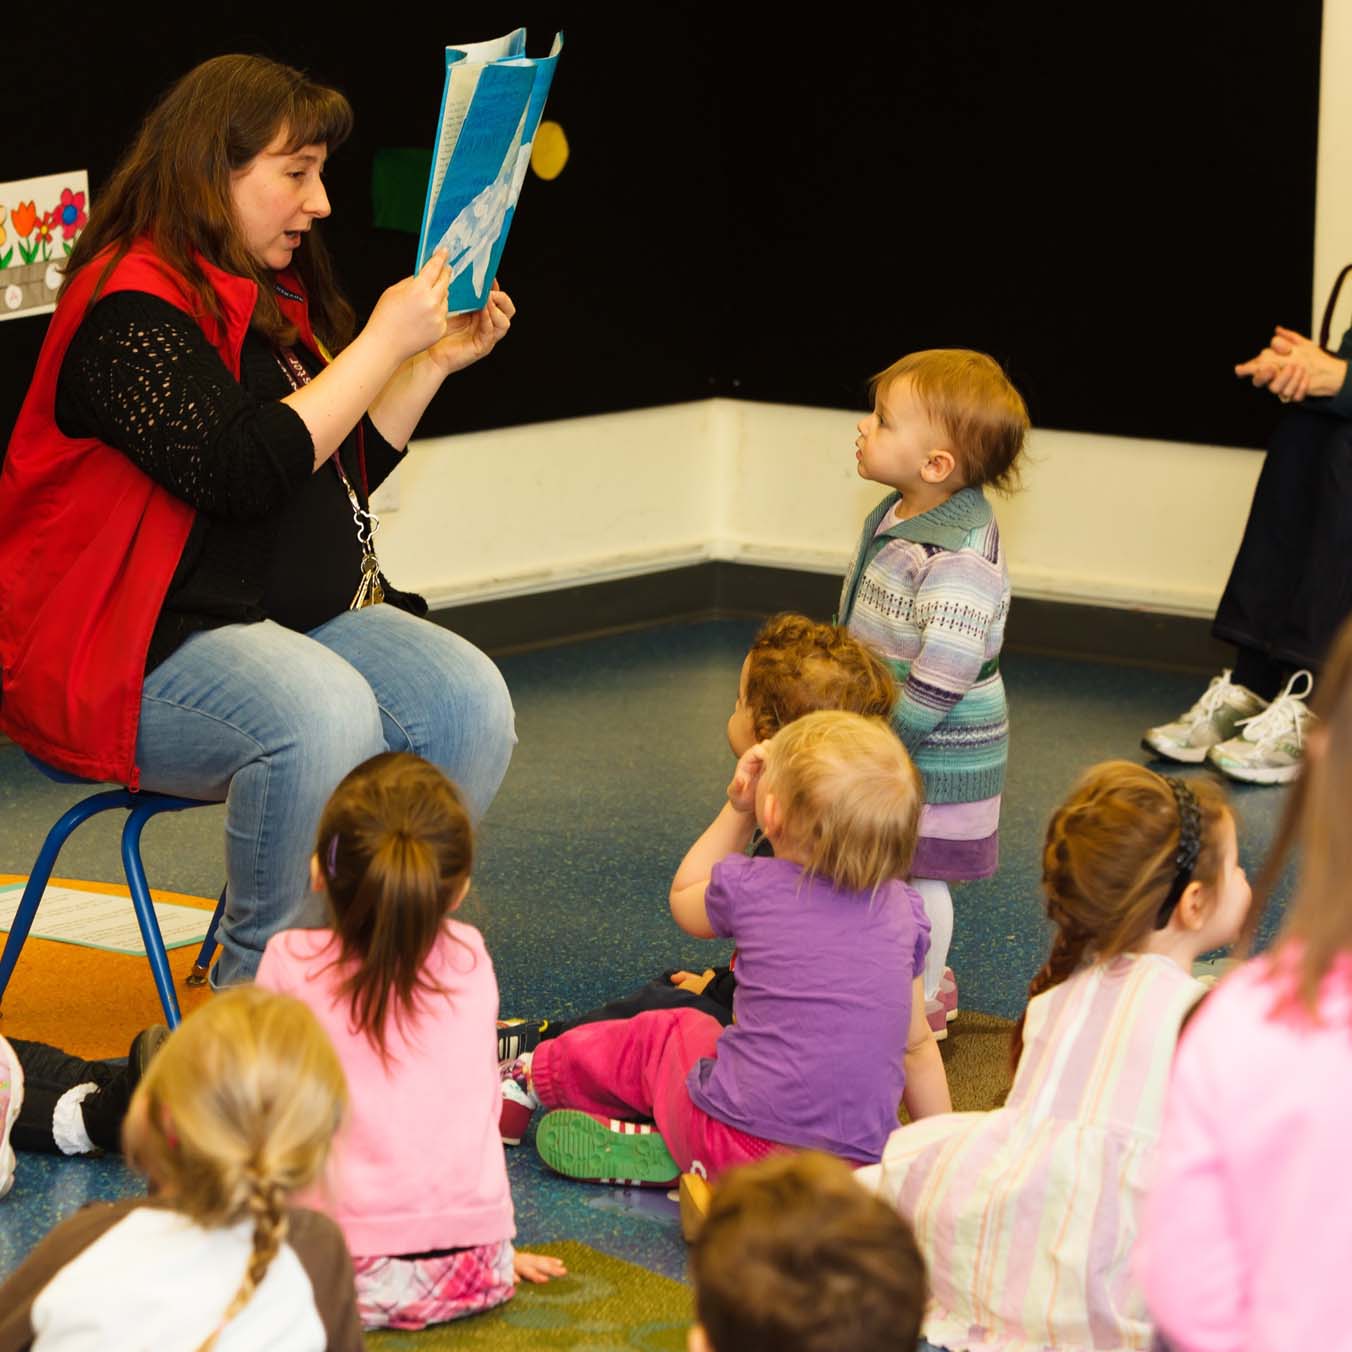
[[[1352,0],[1325,0],[1314,322],[1352,261],[1349,69]],[[416,442],[381,557],[438,606],[704,558],[838,572],[879,495],[856,416],[708,400]],[[1038,429],[1023,492],[996,503],[1015,594],[1209,615],[1261,458]]]

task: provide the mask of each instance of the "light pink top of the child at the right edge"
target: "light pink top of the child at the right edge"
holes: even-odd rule
[[[1275,1017],[1268,959],[1183,1033],[1137,1249],[1176,1352],[1352,1349],[1352,957],[1320,1022]]]

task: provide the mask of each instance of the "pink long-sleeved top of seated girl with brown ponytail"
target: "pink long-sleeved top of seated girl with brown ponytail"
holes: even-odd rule
[[[425,995],[389,1063],[354,1033],[337,996],[342,969],[327,930],[268,941],[257,982],[304,1000],[347,1075],[347,1117],[329,1169],[296,1205],[327,1211],[353,1257],[495,1244],[515,1234],[498,1119],[498,979],[479,930],[448,921],[425,971],[446,995]]]

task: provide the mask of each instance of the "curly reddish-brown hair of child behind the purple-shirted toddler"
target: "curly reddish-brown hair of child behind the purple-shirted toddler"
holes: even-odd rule
[[[815,710],[887,718],[896,703],[892,673],[842,625],[772,615],[748,657],[746,707],[758,741]]]

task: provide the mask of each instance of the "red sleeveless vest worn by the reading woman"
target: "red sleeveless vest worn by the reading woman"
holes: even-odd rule
[[[199,262],[219,320],[146,242],[103,293],[149,292],[183,310],[238,379],[257,284]],[[122,452],[57,427],[61,362],[101,273],[100,257],[61,297],[0,473],[0,727],[50,765],[135,788],[146,653],[196,512]],[[303,318],[303,303],[285,310]]]

